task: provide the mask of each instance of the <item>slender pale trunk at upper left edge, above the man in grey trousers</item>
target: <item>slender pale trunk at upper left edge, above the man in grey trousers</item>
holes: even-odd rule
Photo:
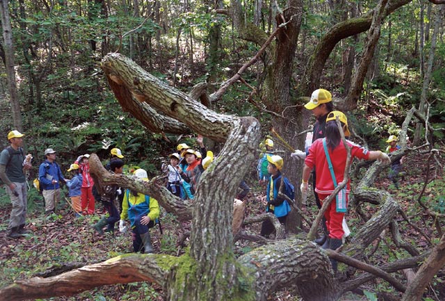
[[[0,3],[1,28],[3,29],[3,49],[5,53],[5,69],[8,79],[9,98],[13,115],[14,128],[23,131],[22,115],[20,114],[20,99],[15,83],[15,62],[13,28],[9,17],[9,1],[2,0]]]

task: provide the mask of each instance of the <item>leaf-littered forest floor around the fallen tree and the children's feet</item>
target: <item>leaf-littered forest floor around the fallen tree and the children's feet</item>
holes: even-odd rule
[[[432,240],[437,241],[439,234],[435,228],[434,220],[429,215],[424,214],[419,205],[417,198],[419,192],[426,179],[426,158],[418,154],[410,155],[405,160],[405,171],[407,176],[401,181],[401,188],[396,189],[394,185],[382,174],[376,181],[375,186],[383,190],[389,191],[396,200],[401,204],[405,213],[409,216],[419,229]],[[430,181],[434,173],[430,169]],[[443,174],[437,175],[435,181],[428,184],[423,194],[423,202],[430,206],[432,210],[444,210],[445,184],[442,179]],[[248,184],[252,184],[249,183]],[[33,189],[33,188],[31,188]],[[262,188],[253,184],[246,202],[248,202],[248,210],[246,216],[258,215],[264,212],[264,206],[261,199],[264,193]],[[442,198],[441,198],[442,196]],[[4,196],[3,196],[4,199]],[[442,203],[440,203],[442,200]],[[307,214],[309,220],[314,220],[317,212],[316,206],[309,200],[308,206],[303,206],[302,210]],[[437,206],[436,206],[437,205]],[[435,207],[436,206],[436,207]],[[6,237],[6,227],[8,223],[10,204],[3,203],[0,206],[0,287],[12,284],[18,279],[29,279],[34,277],[38,272],[43,272],[51,266],[61,263],[96,263],[104,261],[120,254],[131,253],[131,234],[121,234],[116,231],[115,236],[105,235],[99,236],[92,231],[91,226],[99,220],[103,213],[101,204],[96,204],[95,215],[82,218],[74,218],[70,206],[67,202],[61,202],[58,215],[45,218],[43,215],[42,202],[35,202],[33,210],[29,213],[29,223],[26,228],[32,231],[32,234],[18,238],[16,240]],[[375,206],[366,205],[363,210],[367,217],[376,211]],[[348,225],[351,235],[354,235],[355,229],[363,223],[362,218],[357,213],[350,210],[347,216]],[[403,239],[412,243],[419,250],[430,248],[426,238],[403,223],[403,218],[398,215],[398,222],[403,224],[401,234]],[[443,223],[443,222],[442,222]],[[163,213],[161,216],[161,225],[163,234],[159,231],[159,227],[151,230],[154,248],[158,253],[165,254],[182,254],[183,250],[177,247],[177,238],[180,232],[180,224],[170,213]],[[260,225],[250,225],[251,233],[259,233]],[[303,230],[308,231],[309,225],[303,225]],[[398,250],[391,239],[388,238],[380,244],[379,250],[375,252],[373,262],[387,262],[398,259],[406,255],[403,250]],[[248,241],[238,241],[235,245],[236,254],[249,252],[252,248],[257,247],[257,243]],[[403,275],[396,275],[401,281],[405,282]],[[437,278],[428,286],[426,295],[428,300],[445,300],[445,285],[442,279],[444,270]],[[380,279],[373,280],[372,283],[366,285],[362,289],[362,293],[368,295],[357,295],[350,293],[344,295],[341,300],[377,300],[372,299],[372,294],[377,291],[389,291],[394,293],[394,288]],[[371,294],[371,297],[369,297]],[[156,284],[136,283],[136,284],[119,284],[113,286],[103,286],[95,290],[79,293],[74,297],[51,298],[51,300],[159,300],[163,299],[163,292]],[[289,291],[280,291],[270,296],[269,300],[274,301],[294,301],[300,300],[291,289]]]

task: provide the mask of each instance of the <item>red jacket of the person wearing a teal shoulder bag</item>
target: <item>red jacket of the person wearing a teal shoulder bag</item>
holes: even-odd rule
[[[349,147],[351,149],[351,160],[355,158],[365,159],[369,158],[369,151],[360,145],[356,145],[349,140],[347,140]],[[343,174],[346,168],[346,158],[348,152],[340,141],[339,145],[332,152],[329,147],[327,147],[327,152],[331,158],[332,167],[334,168],[335,179],[337,179],[337,184],[343,181]],[[323,148],[323,139],[317,139],[312,143],[309,148],[309,154],[305,159],[305,164],[313,169],[315,167],[316,172],[316,193],[321,193],[323,195],[330,195],[334,191],[334,183],[332,182],[331,172],[329,170],[329,165],[327,164],[325,149]],[[347,188],[350,190],[350,180],[348,181]]]

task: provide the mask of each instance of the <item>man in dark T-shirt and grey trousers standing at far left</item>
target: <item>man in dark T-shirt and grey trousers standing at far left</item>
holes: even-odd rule
[[[27,161],[23,153],[24,134],[19,131],[10,131],[8,141],[10,145],[0,153],[0,179],[6,186],[13,209],[9,216],[7,236],[19,238],[28,234],[26,230],[26,210],[28,208],[28,190],[24,170],[30,170],[31,160]],[[30,157],[31,158],[31,157]]]

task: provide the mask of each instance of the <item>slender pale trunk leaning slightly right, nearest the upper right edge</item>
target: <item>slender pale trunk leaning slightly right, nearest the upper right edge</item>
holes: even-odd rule
[[[425,115],[426,106],[428,104],[427,101],[428,90],[431,82],[432,65],[434,64],[434,58],[435,58],[437,35],[439,33],[439,27],[445,12],[445,6],[435,7],[435,11],[436,11],[436,17],[435,17],[434,29],[432,31],[432,36],[431,36],[430,54],[428,56],[428,63],[426,64],[425,76],[423,77],[422,92],[419,103],[419,113],[421,113],[422,115]],[[414,139],[412,141],[413,145],[420,145],[422,130],[423,130],[423,124],[418,122],[416,124],[416,131],[414,133]]]

